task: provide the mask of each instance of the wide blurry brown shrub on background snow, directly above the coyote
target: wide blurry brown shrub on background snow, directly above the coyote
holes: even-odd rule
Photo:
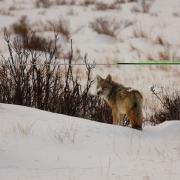
[[[115,18],[100,17],[96,18],[94,22],[90,22],[90,27],[98,34],[107,34],[117,38],[119,32],[132,25],[128,20],[117,21]]]

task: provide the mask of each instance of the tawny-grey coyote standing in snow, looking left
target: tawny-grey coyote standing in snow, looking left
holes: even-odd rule
[[[103,96],[112,109],[113,124],[123,125],[126,114],[132,128],[142,130],[143,97],[138,90],[114,82],[109,74],[106,79],[97,77],[97,94]]]

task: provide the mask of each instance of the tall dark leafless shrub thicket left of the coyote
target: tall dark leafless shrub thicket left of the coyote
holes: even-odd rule
[[[72,46],[69,59],[65,61],[67,65],[57,62],[57,34],[54,40],[44,42],[44,51],[37,51],[22,46],[18,37],[11,43],[7,32],[4,33],[9,58],[2,56],[0,62],[1,103],[112,123],[110,107],[104,100],[89,92],[94,83],[91,72],[95,63],[89,64],[87,55],[82,59],[86,67],[86,84],[82,88],[81,78],[74,71],[72,64]],[[30,33],[29,36],[23,37],[23,40],[28,44],[33,36],[34,33]]]

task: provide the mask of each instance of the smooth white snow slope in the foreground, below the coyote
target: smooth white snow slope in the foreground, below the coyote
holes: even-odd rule
[[[180,122],[143,131],[0,104],[1,180],[180,179]]]

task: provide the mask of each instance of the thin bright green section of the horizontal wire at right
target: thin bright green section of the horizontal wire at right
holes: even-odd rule
[[[122,65],[180,65],[180,62],[128,62],[128,63],[120,63],[117,64]]]

